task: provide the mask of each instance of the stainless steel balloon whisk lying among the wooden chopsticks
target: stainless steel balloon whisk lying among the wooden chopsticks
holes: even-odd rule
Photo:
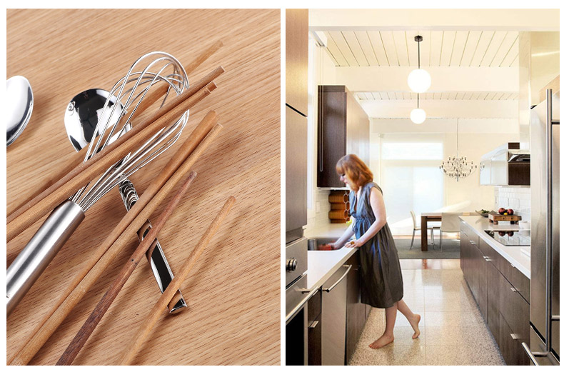
[[[180,62],[170,54],[160,51],[141,56],[131,66],[126,76],[114,84],[104,109],[101,109],[98,115],[84,161],[131,128],[131,121],[136,118],[139,105],[148,91],[158,84],[168,84],[162,104],[171,91],[181,94],[188,87],[186,71]],[[139,149],[111,166],[98,179],[91,181],[54,209],[8,268],[6,273],[8,315],[84,220],[84,213],[111,188],[119,185],[171,147],[187,121],[188,111],[178,121],[160,129]]]

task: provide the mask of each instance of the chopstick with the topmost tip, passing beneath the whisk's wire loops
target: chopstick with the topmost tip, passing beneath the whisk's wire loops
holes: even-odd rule
[[[199,54],[196,57],[196,59],[194,59],[193,61],[191,61],[189,64],[186,65],[186,67],[184,68],[184,71],[186,71],[186,75],[191,74],[194,70],[196,70],[199,66],[201,66],[201,64],[203,64],[203,62],[206,61],[206,59],[208,59],[212,54],[218,51],[218,49],[220,49],[222,46],[223,43],[221,42],[221,40],[215,41],[213,44],[211,44],[211,46],[208,46],[208,48],[206,48],[201,54]],[[137,116],[140,116],[143,113],[143,111],[145,111],[149,106],[151,106],[151,104],[158,101],[158,99],[161,98],[161,96],[163,96],[163,94],[165,94],[167,90],[168,90],[168,84],[159,84],[155,89],[151,89],[151,91],[148,92],[148,94],[145,96],[143,101],[141,101],[141,104],[139,104],[139,106],[137,107],[136,110]],[[49,186],[55,184],[55,182],[58,181],[59,179],[62,179],[64,176],[66,176],[66,174],[69,174],[74,169],[74,167],[81,164],[84,161],[84,157],[86,156],[86,151],[88,151],[87,147],[81,149],[81,151],[79,151],[78,154],[71,153],[73,156],[71,156],[71,159],[66,164],[64,164],[64,166],[62,166],[62,168],[59,170],[59,173],[57,173],[54,176],[51,176],[49,180],[47,180],[44,184],[41,185],[41,188],[34,191],[34,193],[32,193],[31,196],[29,196],[29,198],[26,198],[25,201],[19,203],[17,206],[9,208],[9,210],[6,210],[6,216],[10,217],[8,222],[16,217],[16,215],[12,217],[12,214],[14,214],[15,211],[18,211],[19,209],[21,209],[26,205],[35,204],[37,202],[36,198],[37,196],[39,196],[39,194],[45,191],[46,188],[48,188]],[[36,200],[34,201],[34,199]]]

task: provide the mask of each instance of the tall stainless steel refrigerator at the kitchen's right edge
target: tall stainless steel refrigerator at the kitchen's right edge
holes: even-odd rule
[[[560,365],[560,96],[530,114],[530,345],[532,364]]]

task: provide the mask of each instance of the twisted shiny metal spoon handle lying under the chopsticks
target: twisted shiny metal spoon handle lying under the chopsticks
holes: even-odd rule
[[[128,211],[139,200],[139,195],[137,194],[134,185],[131,184],[131,181],[129,181],[129,179],[120,182],[119,193]],[[143,238],[145,238],[145,236],[147,236],[148,232],[151,230],[151,222],[147,220],[144,226],[147,226],[145,231],[139,231],[138,233],[139,241],[142,241]],[[156,283],[158,284],[158,289],[160,289],[161,293],[163,293],[166,287],[168,287],[168,284],[171,283],[174,276],[171,270],[171,266],[169,266],[168,261],[166,261],[163,248],[161,247],[161,243],[158,242],[158,239],[156,240],[156,246],[153,249],[151,257],[147,256],[147,261],[151,266],[153,276],[155,276]],[[178,311],[186,308],[186,301],[184,301],[180,289],[178,289],[177,292],[180,295],[180,299],[176,304],[174,304],[174,306],[168,306],[169,313],[177,313]]]

